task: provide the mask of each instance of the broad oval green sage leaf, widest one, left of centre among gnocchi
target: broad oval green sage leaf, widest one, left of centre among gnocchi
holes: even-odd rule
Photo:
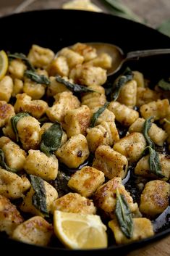
[[[40,147],[48,157],[61,146],[62,133],[60,123],[54,123],[43,133]]]

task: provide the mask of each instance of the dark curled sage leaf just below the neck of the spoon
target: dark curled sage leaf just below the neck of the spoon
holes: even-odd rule
[[[124,86],[125,83],[132,80],[133,76],[134,75],[132,73],[132,70],[130,70],[129,67],[127,67],[124,73],[119,78],[117,78],[114,82],[113,92],[111,94],[111,100],[116,101],[116,99],[119,97],[119,93],[122,86]]]

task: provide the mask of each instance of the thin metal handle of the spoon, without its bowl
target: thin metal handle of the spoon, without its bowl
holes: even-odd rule
[[[129,51],[126,59],[139,59],[140,57],[149,57],[159,54],[170,54],[170,49],[152,49],[152,50],[140,50],[140,51]]]

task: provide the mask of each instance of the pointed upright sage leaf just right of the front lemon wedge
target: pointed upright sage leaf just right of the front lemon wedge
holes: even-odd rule
[[[116,189],[116,218],[119,222],[119,226],[122,233],[127,236],[128,239],[133,234],[133,220],[132,213],[129,210],[129,205],[123,194],[119,194],[119,189]]]

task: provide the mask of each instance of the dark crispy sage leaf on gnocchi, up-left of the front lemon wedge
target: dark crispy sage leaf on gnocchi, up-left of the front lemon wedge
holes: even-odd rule
[[[43,215],[48,217],[48,210],[46,205],[46,189],[44,181],[41,177],[30,175],[30,182],[33,186],[35,194],[33,194],[32,202],[36,209],[40,210]]]

